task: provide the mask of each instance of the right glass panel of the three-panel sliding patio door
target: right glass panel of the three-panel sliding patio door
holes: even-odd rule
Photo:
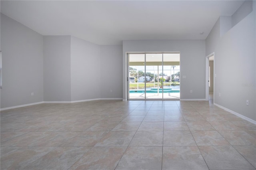
[[[163,72],[167,75],[164,82],[164,99],[179,99],[180,53],[164,53]]]

